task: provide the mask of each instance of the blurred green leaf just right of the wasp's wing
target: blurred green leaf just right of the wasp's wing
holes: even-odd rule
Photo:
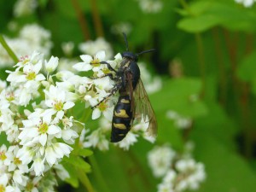
[[[184,116],[195,118],[207,113],[207,107],[198,98],[200,94],[200,79],[181,78],[166,80],[162,90],[150,98],[156,111],[160,110],[163,113],[174,110]],[[154,105],[154,102],[157,105]]]

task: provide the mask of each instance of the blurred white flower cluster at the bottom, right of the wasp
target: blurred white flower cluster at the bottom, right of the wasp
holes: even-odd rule
[[[190,146],[190,145],[188,145]],[[154,147],[148,152],[148,163],[155,177],[162,177],[158,192],[182,192],[199,188],[206,178],[204,165],[187,153],[178,155],[169,146]]]

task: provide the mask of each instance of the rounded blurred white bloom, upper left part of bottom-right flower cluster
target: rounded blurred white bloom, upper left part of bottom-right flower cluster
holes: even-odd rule
[[[175,152],[168,146],[154,147],[148,152],[148,164],[155,177],[162,177],[170,169]]]

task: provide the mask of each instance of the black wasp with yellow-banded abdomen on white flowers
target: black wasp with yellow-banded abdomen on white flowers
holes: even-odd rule
[[[148,135],[155,137],[157,124],[154,115],[154,110],[149,102],[147,92],[140,79],[140,69],[137,65],[138,55],[154,51],[154,49],[144,50],[141,53],[134,54],[128,49],[128,42],[125,33],[126,51],[121,55],[123,60],[120,63],[119,69],[115,70],[106,61],[101,64],[106,64],[112,73],[105,76],[110,77],[115,82],[110,94],[102,99],[101,102],[113,96],[119,91],[119,100],[113,109],[111,142],[117,143],[125,138],[128,131],[131,130],[134,119],[140,121],[142,118],[148,119]],[[113,73],[115,75],[113,75]],[[104,77],[105,77],[104,76]],[[99,102],[96,106],[98,106]],[[94,106],[93,108],[96,108]]]

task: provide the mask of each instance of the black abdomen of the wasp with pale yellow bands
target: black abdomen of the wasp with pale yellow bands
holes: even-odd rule
[[[111,142],[117,143],[125,138],[131,129],[131,99],[127,96],[119,96],[119,101],[113,109]]]

